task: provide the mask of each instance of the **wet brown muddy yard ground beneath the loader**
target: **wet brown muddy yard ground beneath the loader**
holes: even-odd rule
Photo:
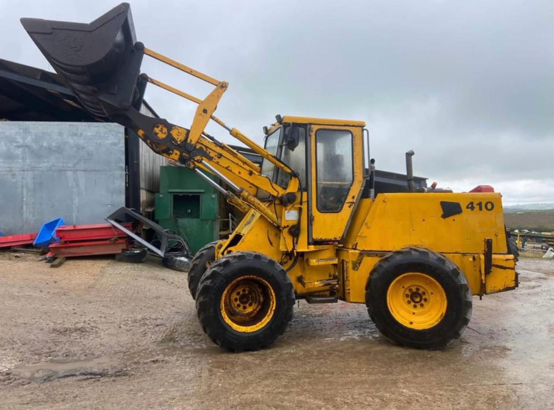
[[[274,346],[227,353],[198,325],[186,275],[152,258],[0,254],[0,408],[554,408],[554,261],[474,298],[460,340],[395,346],[362,305],[295,308]]]

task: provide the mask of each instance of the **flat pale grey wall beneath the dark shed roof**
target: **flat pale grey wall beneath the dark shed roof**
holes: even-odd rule
[[[57,217],[100,223],[125,206],[124,127],[0,122],[0,232],[36,232]]]

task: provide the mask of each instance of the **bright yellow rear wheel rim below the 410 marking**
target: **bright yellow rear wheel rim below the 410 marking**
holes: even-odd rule
[[[387,291],[387,305],[394,319],[411,329],[437,325],[447,311],[447,295],[440,284],[423,273],[404,273]]]

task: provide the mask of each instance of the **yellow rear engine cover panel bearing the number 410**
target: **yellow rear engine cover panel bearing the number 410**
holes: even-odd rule
[[[461,213],[443,218],[440,202],[460,204]],[[470,202],[483,210],[468,209]],[[486,211],[484,204],[493,209]],[[484,239],[493,253],[506,253],[504,213],[499,193],[383,193],[362,199],[346,234],[345,247],[394,250],[410,246],[440,253],[483,253]]]

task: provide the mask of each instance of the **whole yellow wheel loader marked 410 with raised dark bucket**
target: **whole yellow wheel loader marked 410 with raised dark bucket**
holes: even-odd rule
[[[214,115],[228,83],[137,42],[129,4],[90,24],[21,21],[85,109],[134,130],[244,213],[228,239],[197,253],[188,277],[202,329],[224,349],[271,345],[299,299],[366,304],[392,341],[434,349],[462,334],[472,296],[516,288],[499,193],[414,192],[408,167],[408,193],[376,196],[363,121],[278,115],[258,145]],[[140,74],[145,55],[213,91],[201,99]],[[141,114],[148,83],[198,105],[189,128]],[[261,166],[207,134],[208,121]]]

